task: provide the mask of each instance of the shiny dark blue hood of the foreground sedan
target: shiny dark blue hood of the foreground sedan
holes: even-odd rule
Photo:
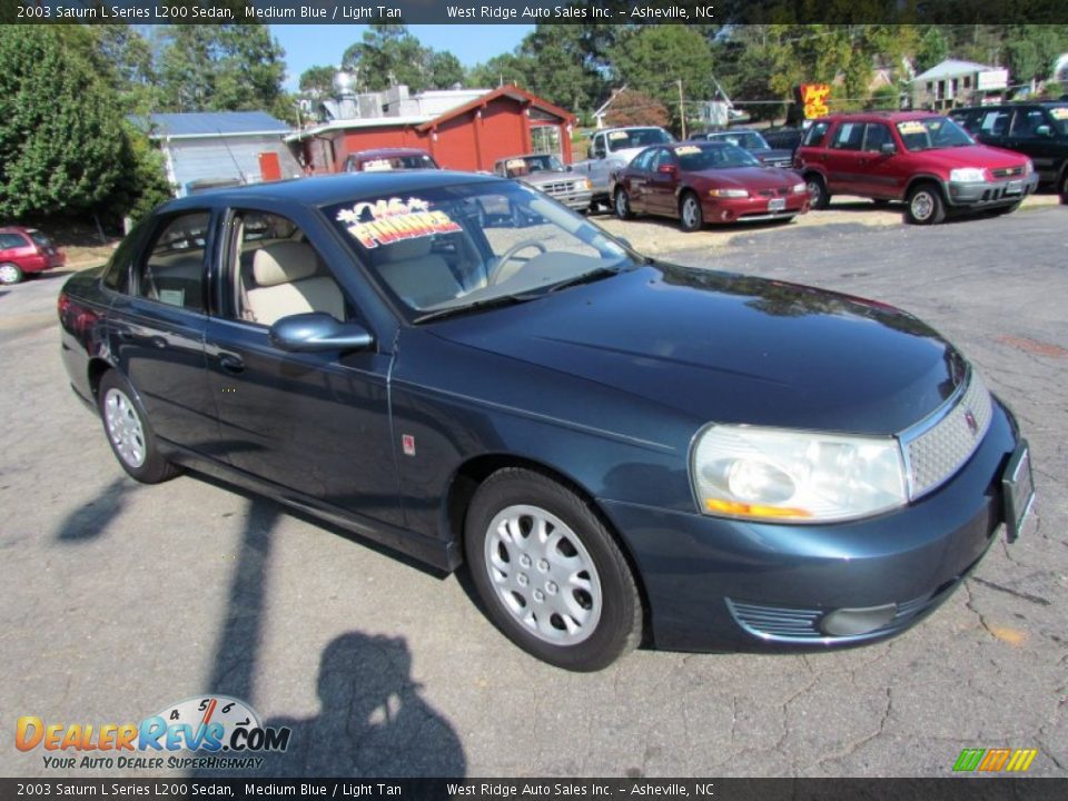
[[[966,373],[936,332],[893,307],[670,265],[443,320],[434,333],[698,424],[892,434],[938,408]]]

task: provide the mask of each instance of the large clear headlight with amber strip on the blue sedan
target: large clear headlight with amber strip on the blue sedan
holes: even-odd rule
[[[892,437],[711,425],[691,465],[701,512],[823,523],[867,517],[908,500]]]

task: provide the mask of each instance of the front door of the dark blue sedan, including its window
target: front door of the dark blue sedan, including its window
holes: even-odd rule
[[[344,512],[399,524],[389,428],[389,343],[359,353],[287,353],[268,335],[281,317],[358,320],[320,254],[319,231],[235,209],[206,354],[221,449],[237,468]]]

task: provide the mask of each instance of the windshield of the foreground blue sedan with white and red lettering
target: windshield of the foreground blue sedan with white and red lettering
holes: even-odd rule
[[[601,228],[510,180],[359,198],[323,210],[415,322],[536,299],[637,264]]]

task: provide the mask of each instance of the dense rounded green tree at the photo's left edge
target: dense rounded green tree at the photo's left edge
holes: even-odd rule
[[[0,215],[98,210],[123,147],[112,92],[61,31],[0,28]]]

